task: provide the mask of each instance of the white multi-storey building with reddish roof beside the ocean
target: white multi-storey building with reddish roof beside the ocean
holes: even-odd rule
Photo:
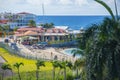
[[[20,26],[28,26],[30,20],[36,19],[36,15],[26,12],[21,13],[0,13],[0,21],[1,25],[9,25],[10,28],[20,27]],[[7,23],[4,24],[3,21]]]

